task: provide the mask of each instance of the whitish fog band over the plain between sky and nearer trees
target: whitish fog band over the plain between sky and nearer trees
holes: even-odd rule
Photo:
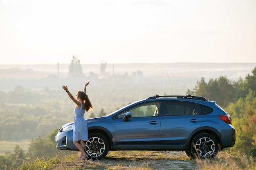
[[[231,81],[251,74],[256,63],[163,63],[163,64],[81,64],[82,75],[70,75],[70,64],[0,65],[1,91],[16,86],[31,89],[61,89],[65,84],[81,88],[90,81],[91,86],[111,87],[179,87],[176,93],[184,94],[196,82],[227,76]],[[167,91],[167,90],[166,90]],[[177,95],[178,95],[177,94]],[[152,94],[150,94],[152,95]],[[171,95],[171,94],[168,94]]]

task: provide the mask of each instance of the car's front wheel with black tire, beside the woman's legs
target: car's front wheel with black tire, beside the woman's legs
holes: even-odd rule
[[[108,150],[109,143],[105,136],[99,133],[88,135],[88,141],[85,142],[85,152],[90,159],[102,159],[106,157]]]

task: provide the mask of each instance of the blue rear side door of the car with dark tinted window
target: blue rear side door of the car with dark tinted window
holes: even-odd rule
[[[161,119],[160,141],[162,145],[180,146],[199,128],[204,116],[198,104],[193,102],[166,101]]]

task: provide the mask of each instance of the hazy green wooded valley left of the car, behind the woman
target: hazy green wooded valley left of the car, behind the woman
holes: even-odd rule
[[[63,98],[57,92],[32,93],[17,86],[7,94],[0,94],[0,140],[32,139],[74,121],[73,103],[67,96],[63,102],[56,100]],[[99,113],[92,112],[86,116],[92,118],[104,115],[106,112],[102,108]]]

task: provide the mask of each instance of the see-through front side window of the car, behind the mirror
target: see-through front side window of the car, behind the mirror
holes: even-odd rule
[[[123,119],[124,113],[131,112],[132,117],[150,117],[159,115],[160,102],[150,102],[146,104],[139,104],[132,106],[127,110],[119,113],[117,119]]]

